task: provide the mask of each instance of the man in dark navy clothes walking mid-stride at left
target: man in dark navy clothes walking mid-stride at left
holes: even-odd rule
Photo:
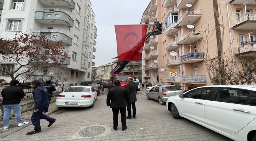
[[[56,121],[56,119],[43,114],[46,107],[49,105],[48,90],[43,87],[41,82],[38,80],[32,81],[30,87],[34,89],[32,94],[35,106],[31,116],[31,121],[35,127],[33,131],[28,132],[26,135],[33,135],[42,131],[40,126],[40,119],[46,119],[49,122],[48,127],[50,127]]]

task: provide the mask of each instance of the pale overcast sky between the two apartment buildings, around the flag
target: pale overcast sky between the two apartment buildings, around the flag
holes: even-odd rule
[[[90,0],[97,31],[95,67],[111,63],[117,57],[114,25],[140,24],[151,0]]]

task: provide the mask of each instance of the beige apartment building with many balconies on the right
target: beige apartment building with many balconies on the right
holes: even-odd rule
[[[250,56],[252,51],[256,51],[256,1],[218,2],[220,23],[226,26],[224,51],[230,51],[232,57],[239,50],[244,56]],[[156,21],[163,23],[163,31],[160,35],[151,36],[143,47],[143,82],[154,84],[158,78],[160,83],[173,84],[169,69],[177,69],[175,85],[212,85],[202,58],[205,58],[206,49],[212,58],[217,54],[213,1],[151,0],[140,24],[148,24],[148,31],[152,31],[151,22]],[[221,34],[222,31],[223,28]],[[176,52],[176,56],[171,56],[172,51]],[[160,71],[161,68],[164,71]]]

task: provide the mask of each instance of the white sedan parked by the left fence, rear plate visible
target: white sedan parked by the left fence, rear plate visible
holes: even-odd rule
[[[58,94],[55,105],[61,107],[93,107],[97,92],[91,86],[71,86]]]

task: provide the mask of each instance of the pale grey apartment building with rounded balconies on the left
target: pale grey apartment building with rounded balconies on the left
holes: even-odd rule
[[[65,83],[80,85],[91,81],[97,29],[90,0],[0,0],[0,10],[0,38],[13,38],[17,32],[28,32],[44,34],[52,41],[62,40],[69,58],[57,69],[75,76],[74,81]],[[10,70],[19,67],[12,63]],[[0,65],[6,67],[7,64]],[[47,73],[50,72],[44,71],[45,79],[49,79]],[[1,72],[0,78],[11,80]]]

